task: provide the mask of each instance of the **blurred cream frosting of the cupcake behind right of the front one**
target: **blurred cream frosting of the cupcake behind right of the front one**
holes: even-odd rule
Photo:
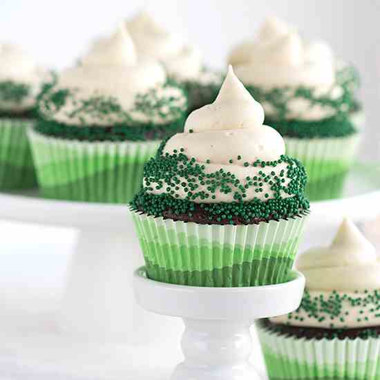
[[[346,82],[353,79],[338,75],[330,46],[302,39],[277,18],[268,18],[256,39],[237,46],[228,60],[262,102],[267,117],[321,120],[352,105],[351,84]]]

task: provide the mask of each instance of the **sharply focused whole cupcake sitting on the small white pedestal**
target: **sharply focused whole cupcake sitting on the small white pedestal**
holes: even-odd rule
[[[309,210],[305,169],[263,125],[232,68],[213,104],[162,142],[131,202],[149,278],[241,287],[287,281]]]

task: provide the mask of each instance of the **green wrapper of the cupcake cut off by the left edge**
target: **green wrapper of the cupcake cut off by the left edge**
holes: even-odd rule
[[[0,118],[0,189],[30,189],[37,178],[26,129],[32,120]]]

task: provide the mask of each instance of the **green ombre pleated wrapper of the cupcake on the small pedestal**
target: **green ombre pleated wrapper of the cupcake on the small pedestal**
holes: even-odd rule
[[[133,211],[149,278],[208,287],[287,281],[305,219],[200,225]]]

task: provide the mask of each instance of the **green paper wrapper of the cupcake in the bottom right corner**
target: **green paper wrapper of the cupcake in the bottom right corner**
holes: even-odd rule
[[[270,380],[380,379],[380,339],[297,339],[257,330]]]

